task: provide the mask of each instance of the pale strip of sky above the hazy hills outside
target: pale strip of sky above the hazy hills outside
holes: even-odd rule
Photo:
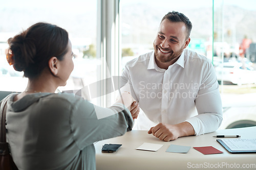
[[[34,7],[35,4],[38,6],[38,8],[56,8],[56,6],[59,6],[58,9],[63,8],[61,4],[65,3],[65,4],[69,4],[66,10],[74,10],[72,7],[76,6],[76,8],[81,9],[81,10],[94,10],[92,8],[87,8],[87,6],[79,6],[77,4],[79,4],[79,2],[86,2],[88,4],[88,7],[96,7],[94,4],[95,2],[98,0],[44,0],[44,1],[34,1],[34,0],[8,0],[8,1],[4,1],[4,0],[0,0],[0,9],[1,8],[9,8],[9,7],[13,7],[13,8],[19,8],[19,7]],[[109,1],[109,0],[105,0],[105,1]],[[75,2],[75,4],[74,4]],[[200,7],[210,7],[212,6],[212,0],[180,0],[178,1],[179,3],[177,3],[176,0],[120,0],[120,3],[122,3],[123,5],[126,4],[134,4],[134,3],[147,3],[147,4],[152,4],[154,6],[158,6],[159,8],[161,8],[161,6],[166,5],[166,4],[171,4],[172,7],[175,8],[196,8],[198,6]],[[173,2],[173,3],[172,3]],[[217,4],[221,4],[222,2],[225,5],[236,5],[236,6],[240,6],[244,9],[248,9],[248,10],[256,10],[256,1],[255,0],[214,0],[215,5]],[[56,9],[56,10],[58,10]]]

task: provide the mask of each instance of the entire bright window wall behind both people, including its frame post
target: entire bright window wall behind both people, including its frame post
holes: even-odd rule
[[[224,115],[221,129],[256,125],[254,0],[10,0],[1,3],[0,11],[0,91],[23,91],[27,85],[23,74],[6,62],[7,39],[46,21],[69,32],[75,54],[71,78],[58,90],[96,85],[96,97],[108,93],[111,85],[105,80],[119,76],[127,61],[154,49],[167,12],[182,12],[193,24],[187,48],[206,56],[216,68]],[[114,97],[91,101],[110,106]]]

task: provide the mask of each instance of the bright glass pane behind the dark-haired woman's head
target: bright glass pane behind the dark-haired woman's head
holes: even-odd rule
[[[69,32],[74,53],[74,70],[65,87],[75,90],[97,81],[96,21],[97,1],[10,0],[1,3],[0,11],[0,91],[23,91],[27,79],[6,61],[7,39],[43,21]],[[5,83],[2,83],[5,82]]]

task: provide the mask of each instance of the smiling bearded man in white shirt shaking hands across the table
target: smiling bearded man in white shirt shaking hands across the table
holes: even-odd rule
[[[214,67],[206,57],[185,49],[191,28],[184,14],[166,14],[154,51],[128,62],[121,78],[127,83],[123,90],[130,85],[128,91],[156,124],[148,133],[164,141],[213,132],[222,122]]]

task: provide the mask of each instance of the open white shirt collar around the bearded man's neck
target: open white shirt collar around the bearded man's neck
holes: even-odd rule
[[[179,64],[182,68],[184,68],[185,63],[184,51],[181,53],[179,59],[174,64]],[[155,52],[151,54],[150,62],[148,62],[147,69],[156,69],[157,71],[165,71],[163,68],[159,68],[155,61]]]

